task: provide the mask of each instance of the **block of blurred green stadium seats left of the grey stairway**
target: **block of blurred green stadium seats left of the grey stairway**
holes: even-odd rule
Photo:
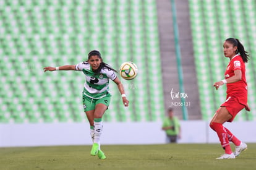
[[[142,10],[143,9],[143,10]],[[108,122],[159,121],[163,94],[156,2],[147,1],[0,1],[0,122],[82,122],[82,72],[43,72],[45,66],[78,64],[99,49],[106,63],[139,67],[135,80],[122,80],[130,107],[124,108],[116,84]],[[158,77],[142,75],[157,74]],[[140,82],[140,83],[138,83]],[[15,85],[19,84],[18,87]],[[148,93],[151,91],[151,93]],[[150,95],[149,98],[140,96]],[[15,100],[16,106],[12,101]]]

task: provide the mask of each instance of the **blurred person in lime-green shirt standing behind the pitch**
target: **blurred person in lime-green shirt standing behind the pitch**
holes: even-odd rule
[[[168,116],[163,121],[162,130],[166,132],[168,143],[177,143],[177,139],[181,138],[181,125],[179,119],[174,116],[173,108],[168,109]]]

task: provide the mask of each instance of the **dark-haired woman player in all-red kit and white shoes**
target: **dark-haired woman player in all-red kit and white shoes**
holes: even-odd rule
[[[227,84],[226,101],[221,104],[211,119],[210,127],[215,130],[220,138],[221,146],[225,153],[217,159],[233,159],[239,156],[241,151],[247,149],[247,145],[236,138],[226,127],[224,122],[232,122],[236,114],[242,109],[250,111],[247,105],[247,82],[245,79],[245,62],[249,55],[241,42],[235,38],[228,38],[224,41],[223,52],[229,57],[230,62],[225,72],[225,79],[215,82],[213,86],[218,90],[221,85]],[[231,150],[229,141],[236,145],[234,153]]]

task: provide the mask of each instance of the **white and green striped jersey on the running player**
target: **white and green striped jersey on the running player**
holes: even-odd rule
[[[109,93],[109,79],[114,80],[117,77],[116,72],[107,68],[101,69],[100,74],[95,74],[88,62],[80,62],[75,66],[75,70],[85,74],[83,95],[95,99],[106,96]]]

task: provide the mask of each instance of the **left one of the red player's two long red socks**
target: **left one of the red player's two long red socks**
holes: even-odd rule
[[[217,133],[221,142],[221,146],[224,148],[225,153],[231,154],[232,150],[229,145],[228,133],[226,132],[226,129],[223,127],[223,125],[220,123],[212,122],[210,124],[210,127]]]

